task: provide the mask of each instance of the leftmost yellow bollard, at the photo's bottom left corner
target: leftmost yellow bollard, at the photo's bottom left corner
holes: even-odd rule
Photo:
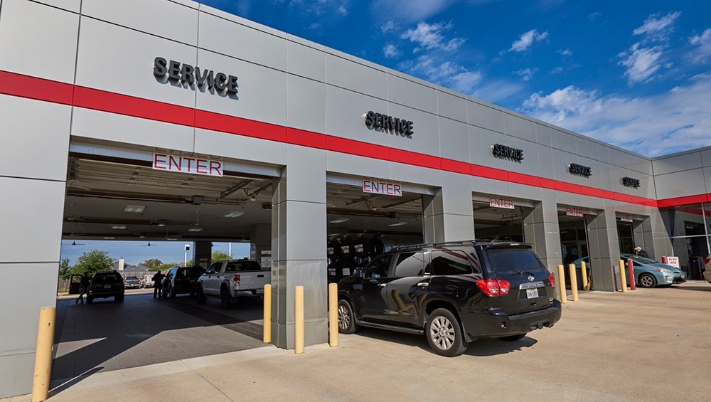
[[[42,307],[40,310],[37,350],[35,351],[35,377],[32,381],[32,402],[45,401],[49,396],[56,315],[57,310],[54,307]]]

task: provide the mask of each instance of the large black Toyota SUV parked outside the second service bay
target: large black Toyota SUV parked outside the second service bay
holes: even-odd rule
[[[555,279],[530,245],[471,240],[400,246],[338,282],[338,330],[425,334],[443,356],[477,337],[516,341],[560,319]]]

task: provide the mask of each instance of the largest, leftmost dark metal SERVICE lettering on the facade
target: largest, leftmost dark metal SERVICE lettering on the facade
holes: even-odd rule
[[[197,84],[198,88],[207,88],[210,92],[226,92],[227,95],[236,95],[239,87],[235,75],[215,73],[213,70],[204,70],[179,61],[168,61],[162,57],[156,57],[154,60],[153,75],[158,80],[164,80],[167,75],[169,81],[187,83],[188,86]]]

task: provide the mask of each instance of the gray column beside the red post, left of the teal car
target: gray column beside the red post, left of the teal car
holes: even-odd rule
[[[614,208],[608,207],[597,216],[586,215],[590,271],[593,290],[616,291],[619,273],[619,238]]]

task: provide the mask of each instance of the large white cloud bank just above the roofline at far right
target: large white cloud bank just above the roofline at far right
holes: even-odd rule
[[[711,145],[711,74],[648,97],[602,96],[572,86],[533,94],[522,112],[651,157]]]

